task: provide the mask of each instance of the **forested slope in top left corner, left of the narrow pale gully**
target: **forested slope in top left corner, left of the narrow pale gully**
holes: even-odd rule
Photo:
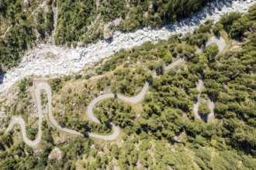
[[[0,72],[16,66],[22,58],[22,52],[51,35],[54,26],[52,2],[0,2]]]

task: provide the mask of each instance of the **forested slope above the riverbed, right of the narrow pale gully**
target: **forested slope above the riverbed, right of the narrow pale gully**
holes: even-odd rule
[[[211,0],[58,1],[56,43],[85,44],[103,36],[110,38],[116,29],[126,32],[145,26],[160,27],[191,15],[207,2]]]

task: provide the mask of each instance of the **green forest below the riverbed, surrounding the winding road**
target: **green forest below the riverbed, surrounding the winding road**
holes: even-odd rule
[[[54,117],[61,126],[80,131],[85,138],[57,143],[56,138],[63,134],[46,119],[40,151],[36,151],[22,141],[15,142],[20,131],[12,130],[0,137],[0,167],[255,169],[255,24],[256,5],[245,15],[223,15],[215,25],[208,21],[186,36],[175,35],[167,41],[120,50],[96,64],[93,71],[49,80],[54,93]],[[219,53],[213,44],[195,53],[213,34],[226,39],[226,49]],[[185,63],[164,71],[164,66],[182,57]],[[154,70],[156,77],[151,76]],[[91,76],[96,75],[99,77],[92,80]],[[199,120],[192,111],[199,78],[204,83],[202,96],[211,97],[215,103],[216,118],[212,121]],[[133,96],[145,80],[150,89],[140,104],[133,106],[116,98],[100,102],[94,111],[102,124],[93,124],[82,116],[99,93],[114,91]],[[17,103],[5,108],[6,115],[20,113],[28,117],[26,108],[16,105],[26,105],[32,86],[33,80],[19,83]],[[99,142],[87,138],[88,131],[111,133],[109,122],[122,128],[119,139]],[[35,131],[27,132],[29,138],[34,138]],[[61,150],[60,157],[52,156],[56,149]]]

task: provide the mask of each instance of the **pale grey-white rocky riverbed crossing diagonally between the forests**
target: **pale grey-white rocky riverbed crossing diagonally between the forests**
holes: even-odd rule
[[[57,74],[78,73],[86,65],[106,58],[119,49],[129,49],[140,46],[146,41],[157,42],[159,39],[168,39],[175,33],[193,32],[208,19],[214,22],[227,12],[247,12],[255,1],[218,0],[206,5],[200,12],[176,24],[170,24],[161,29],[144,28],[136,32],[113,32],[112,41],[99,40],[95,44],[68,49],[67,47],[41,44],[28,50],[19,66],[0,75],[0,92],[6,92],[14,83],[25,76],[56,76]],[[51,53],[55,57],[43,57]]]

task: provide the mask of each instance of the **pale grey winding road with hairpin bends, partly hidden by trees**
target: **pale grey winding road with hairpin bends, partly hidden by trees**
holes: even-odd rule
[[[206,46],[208,46],[209,44],[212,43],[216,43],[217,46],[219,47],[220,51],[223,50],[226,46],[226,42],[223,38],[217,39],[215,38],[211,38],[209,39],[208,42],[206,42]],[[197,52],[199,53],[199,52]],[[185,59],[178,59],[176,60],[174,63],[171,63],[168,66],[164,67],[164,70],[169,70],[175,66],[177,66],[178,64],[184,62]],[[157,76],[157,74],[154,72],[153,76]],[[201,84],[201,83],[199,83]],[[145,83],[144,87],[142,88],[142,90],[140,91],[139,94],[137,94],[137,96],[135,97],[125,97],[123,95],[120,94],[114,94],[114,93],[106,93],[102,96],[96,97],[94,100],[92,100],[92,102],[88,105],[87,110],[86,110],[86,114],[88,116],[89,119],[91,119],[92,121],[94,121],[95,123],[100,123],[99,119],[97,117],[95,117],[95,115],[93,114],[93,107],[95,106],[95,104],[99,103],[99,101],[101,100],[105,100],[107,98],[113,98],[116,97],[118,99],[130,102],[131,104],[137,104],[138,102],[140,102],[141,100],[143,100],[145,93],[147,93],[149,87],[149,83]],[[25,141],[25,143],[27,145],[30,146],[36,146],[39,144],[40,139],[42,137],[42,119],[43,119],[43,114],[42,114],[42,106],[41,106],[41,99],[40,99],[40,93],[41,90],[46,90],[47,92],[47,98],[48,98],[48,112],[49,112],[49,118],[52,124],[54,124],[55,127],[57,127],[58,129],[60,129],[61,131],[70,133],[70,134],[78,134],[78,135],[82,135],[81,133],[79,133],[78,131],[74,131],[68,128],[63,128],[61,127],[59,124],[57,124],[57,121],[55,121],[53,113],[52,113],[52,93],[50,90],[50,86],[48,85],[48,83],[40,83],[35,90],[35,96],[36,96],[36,105],[38,108],[38,115],[39,115],[39,121],[38,121],[38,134],[37,134],[37,138],[34,141],[29,140],[29,138],[27,138],[26,136],[26,127],[25,127],[25,121],[21,118],[21,117],[16,117],[14,118],[11,123],[9,124],[9,127],[7,128],[6,131],[10,131],[12,129],[12,127],[14,126],[14,124],[19,124],[22,130],[22,138]],[[196,109],[196,104],[194,105],[194,110]],[[195,111],[196,113],[196,111]],[[101,135],[101,134],[92,134],[92,133],[88,133],[88,136],[93,137],[93,138],[100,138],[100,139],[104,139],[104,140],[114,140],[116,139],[119,134],[120,134],[120,129],[115,126],[115,124],[112,124],[112,130],[113,133],[109,134],[109,135]]]

